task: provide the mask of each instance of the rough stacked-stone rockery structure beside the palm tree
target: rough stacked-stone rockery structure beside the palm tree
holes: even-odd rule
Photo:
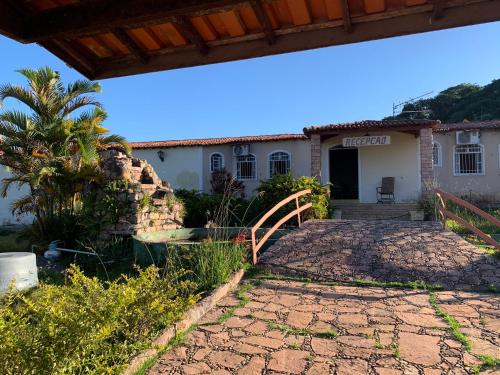
[[[122,186],[117,192],[122,210],[117,222],[104,230],[103,238],[182,227],[182,204],[147,161],[109,150],[104,155],[103,174],[107,183],[120,181]]]

